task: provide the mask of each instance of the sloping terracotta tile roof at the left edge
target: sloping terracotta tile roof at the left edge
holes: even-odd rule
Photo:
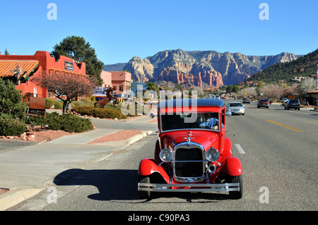
[[[13,71],[16,71],[17,65],[20,69],[22,69],[21,73],[23,74],[23,78],[30,75],[31,72],[35,71],[37,66],[39,66],[39,61],[37,60],[0,60],[0,77],[13,77],[15,76],[12,73],[11,68]]]

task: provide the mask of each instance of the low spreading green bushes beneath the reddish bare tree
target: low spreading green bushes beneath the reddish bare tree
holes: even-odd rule
[[[93,130],[93,123],[89,118],[80,118],[72,114],[59,115],[57,112],[42,116],[30,116],[25,123],[31,125],[47,125],[51,130],[65,130],[69,133],[82,133]]]

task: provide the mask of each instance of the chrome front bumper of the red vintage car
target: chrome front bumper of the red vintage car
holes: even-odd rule
[[[178,187],[172,189],[172,187]],[[186,188],[188,187],[188,188]],[[240,183],[138,183],[138,190],[153,192],[225,192],[240,191]]]

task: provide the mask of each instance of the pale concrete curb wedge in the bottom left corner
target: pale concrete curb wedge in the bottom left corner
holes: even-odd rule
[[[7,193],[0,195],[0,211],[18,205],[20,202],[37,195],[44,189],[45,188],[25,188],[10,190]]]

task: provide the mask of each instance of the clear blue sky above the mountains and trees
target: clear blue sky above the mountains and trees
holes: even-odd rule
[[[57,20],[49,20],[49,3]],[[260,20],[261,3],[269,20]],[[307,54],[318,48],[318,1],[0,0],[0,51],[52,51],[67,36],[90,42],[105,64],[158,51]]]

